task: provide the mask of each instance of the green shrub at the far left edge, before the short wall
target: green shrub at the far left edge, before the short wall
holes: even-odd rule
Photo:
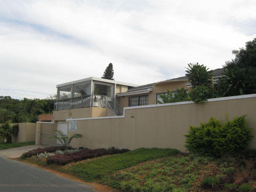
[[[0,137],[6,140],[6,143],[12,143],[12,137],[16,137],[18,134],[18,124],[10,126],[10,122],[6,121],[0,127]]]

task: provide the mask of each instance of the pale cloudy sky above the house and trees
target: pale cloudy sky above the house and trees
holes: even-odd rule
[[[143,85],[210,70],[256,38],[251,0],[0,0],[0,95],[47,98],[102,77]]]

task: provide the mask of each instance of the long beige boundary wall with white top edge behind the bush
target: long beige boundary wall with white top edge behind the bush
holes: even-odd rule
[[[183,104],[187,103],[187,104]],[[176,148],[185,151],[185,137],[191,126],[214,117],[225,122],[226,117],[247,114],[247,124],[255,135],[250,147],[256,147],[256,95],[252,98],[218,100],[201,104],[182,102],[126,109],[124,118],[85,119],[78,121],[82,138],[74,139],[72,146],[88,148]]]

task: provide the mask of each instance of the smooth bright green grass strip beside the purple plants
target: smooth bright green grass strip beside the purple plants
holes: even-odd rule
[[[116,156],[78,163],[68,167],[65,171],[82,178],[86,182],[93,182],[96,179],[101,179],[104,175],[113,174],[118,170],[136,166],[141,162],[165,158],[178,153],[180,151],[172,149],[140,148]]]

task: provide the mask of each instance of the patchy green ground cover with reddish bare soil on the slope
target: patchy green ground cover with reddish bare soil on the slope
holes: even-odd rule
[[[209,159],[194,154],[178,154],[107,174],[100,182],[121,191],[186,191],[185,188],[190,188],[196,182],[196,172],[202,162]],[[190,169],[189,173],[186,172],[187,167]],[[175,189],[175,185],[180,189]]]

